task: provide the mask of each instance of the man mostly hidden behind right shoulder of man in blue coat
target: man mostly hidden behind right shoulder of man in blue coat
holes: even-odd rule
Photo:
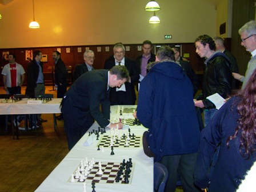
[[[192,85],[193,85],[193,90],[194,90],[194,96],[197,93],[198,90],[198,77],[197,74],[195,74],[195,71],[191,67],[189,61],[187,59],[182,58],[178,47],[173,47],[174,51],[174,57],[175,57],[175,62],[178,63],[182,69],[186,72],[187,77],[189,77]]]

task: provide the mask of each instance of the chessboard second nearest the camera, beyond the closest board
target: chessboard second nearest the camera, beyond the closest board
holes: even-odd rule
[[[99,139],[99,143],[97,145],[97,147],[99,146],[101,147],[110,147],[110,143],[111,143],[111,135],[103,135],[103,137],[101,139]],[[117,137],[116,137],[117,138]],[[113,141],[114,147],[127,147],[127,148],[138,148],[138,147],[142,147],[142,137],[141,135],[135,135],[134,138],[130,137],[130,140],[127,141],[128,142],[128,146],[126,146],[126,136],[125,138],[123,138],[123,136],[121,137],[121,140],[118,139],[118,143],[116,143],[116,141]]]

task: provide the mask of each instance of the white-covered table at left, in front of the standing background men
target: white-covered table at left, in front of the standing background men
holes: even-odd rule
[[[3,99],[1,99],[3,100]],[[59,108],[62,98],[54,98],[46,103],[27,103],[30,99],[22,99],[18,102],[11,103],[0,103],[0,115],[18,115],[18,114],[55,114],[61,113]],[[56,129],[56,124],[54,121],[54,129]],[[17,139],[18,139],[18,127],[16,127]],[[13,139],[14,139],[14,127],[13,130]]]

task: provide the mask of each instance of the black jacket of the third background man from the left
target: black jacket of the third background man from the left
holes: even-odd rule
[[[67,83],[67,69],[61,58],[58,59],[55,65],[55,84],[60,85]]]

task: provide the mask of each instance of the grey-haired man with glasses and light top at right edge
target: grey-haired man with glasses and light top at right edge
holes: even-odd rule
[[[246,51],[249,51],[252,55],[247,66],[245,76],[238,73],[232,73],[235,79],[243,82],[243,89],[251,77],[251,74],[253,74],[253,71],[256,69],[256,21],[249,21],[245,23],[245,25],[238,30],[238,33],[241,36],[241,45],[244,46]]]

